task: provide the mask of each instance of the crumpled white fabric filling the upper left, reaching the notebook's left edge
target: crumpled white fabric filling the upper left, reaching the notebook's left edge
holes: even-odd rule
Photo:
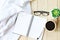
[[[21,11],[31,13],[29,0],[3,0],[0,5],[0,37],[12,28],[17,14]],[[27,4],[25,5],[25,3]],[[25,6],[24,6],[25,5]],[[27,10],[26,10],[27,9]],[[16,15],[14,15],[16,14]],[[10,16],[13,17],[9,18]]]

